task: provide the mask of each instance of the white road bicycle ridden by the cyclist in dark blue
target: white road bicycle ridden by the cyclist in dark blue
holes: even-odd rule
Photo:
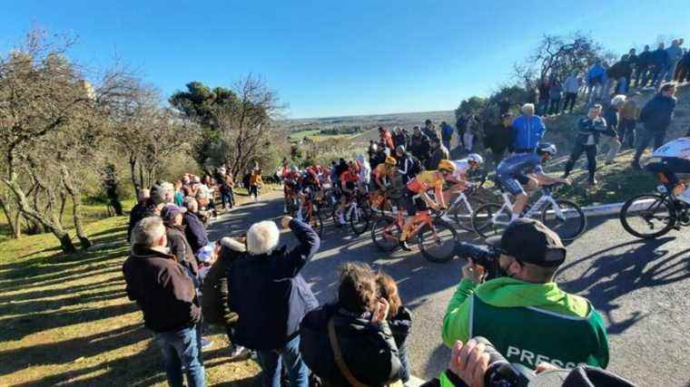
[[[539,218],[542,223],[558,234],[561,240],[576,239],[585,231],[586,215],[576,203],[553,197],[553,190],[564,183],[541,186],[541,198],[527,206],[522,217]],[[508,192],[497,181],[503,204],[487,203],[472,214],[472,228],[479,237],[499,236],[510,224],[513,202]]]

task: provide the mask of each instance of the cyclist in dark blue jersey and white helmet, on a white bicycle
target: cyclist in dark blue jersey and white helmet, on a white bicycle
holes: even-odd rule
[[[555,154],[556,145],[540,142],[533,153],[518,153],[498,164],[496,168],[498,182],[508,192],[515,195],[515,204],[512,208],[513,214],[510,221],[519,218],[522,210],[527,206],[527,193],[522,188],[523,185],[532,191],[538,189],[540,185],[570,184],[568,179],[550,178],[544,174],[541,164],[551,159]]]

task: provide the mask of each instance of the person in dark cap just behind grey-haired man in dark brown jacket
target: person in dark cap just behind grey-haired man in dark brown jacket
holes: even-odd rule
[[[184,226],[182,225],[183,214],[184,208],[166,206],[161,211],[161,218],[165,226],[165,237],[168,239],[170,254],[175,256],[177,262],[187,269],[192,279],[195,279],[199,276],[199,266],[197,265],[194,251],[184,234]]]

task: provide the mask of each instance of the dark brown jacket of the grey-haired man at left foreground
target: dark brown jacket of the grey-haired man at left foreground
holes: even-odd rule
[[[202,309],[192,279],[175,257],[134,245],[124,261],[130,300],[142,309],[143,324],[153,332],[174,332],[199,323]]]

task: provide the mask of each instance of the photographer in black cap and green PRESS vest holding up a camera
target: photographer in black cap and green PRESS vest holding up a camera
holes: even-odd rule
[[[443,341],[452,347],[481,335],[510,363],[535,369],[538,363],[606,368],[606,327],[594,307],[553,282],[566,247],[541,222],[519,218],[488,250],[458,243],[469,256],[462,280],[443,319]],[[484,282],[488,270],[498,273]]]

